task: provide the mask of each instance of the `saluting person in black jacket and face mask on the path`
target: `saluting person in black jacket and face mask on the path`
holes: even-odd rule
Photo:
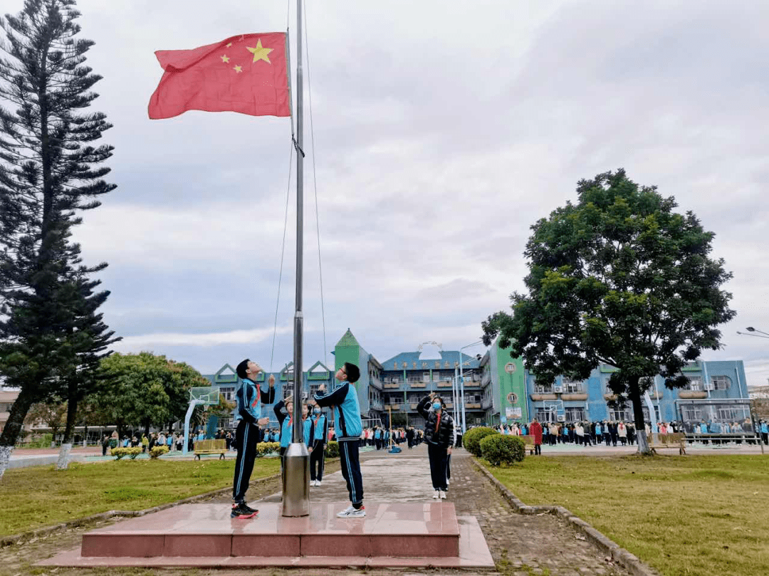
[[[417,411],[424,418],[424,441],[428,443],[433,498],[445,499],[448,488],[446,478],[448,455],[451,454],[451,447],[456,440],[454,419],[444,411],[444,402],[435,392],[422,398]]]

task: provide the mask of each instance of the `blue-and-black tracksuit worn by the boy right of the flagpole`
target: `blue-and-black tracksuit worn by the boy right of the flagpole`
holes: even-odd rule
[[[352,505],[360,509],[363,506],[363,477],[358,446],[361,442],[363,423],[361,409],[358,407],[358,392],[355,386],[345,381],[328,394],[316,394],[315,401],[321,408],[334,408],[341,475],[347,482]]]

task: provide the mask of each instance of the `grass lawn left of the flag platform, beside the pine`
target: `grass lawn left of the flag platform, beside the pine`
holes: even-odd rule
[[[280,458],[258,458],[251,480],[277,474]],[[232,485],[235,460],[135,460],[5,471],[0,534],[18,534],[108,510],[141,510]]]

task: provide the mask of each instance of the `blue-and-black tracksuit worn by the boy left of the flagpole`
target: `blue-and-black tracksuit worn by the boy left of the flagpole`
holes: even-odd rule
[[[256,444],[259,443],[261,431],[256,421],[261,418],[261,405],[272,404],[275,401],[275,388],[263,391],[251,380],[246,378],[243,385],[235,394],[238,413],[235,415],[238,428],[235,430],[235,445],[238,447],[238,458],[235,460],[235,479],[232,482],[232,499],[235,502],[245,501],[245,491],[251,481],[251,471],[254,470]]]

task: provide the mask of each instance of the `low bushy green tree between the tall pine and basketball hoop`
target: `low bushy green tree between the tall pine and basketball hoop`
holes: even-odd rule
[[[151,426],[181,420],[189,389],[211,385],[195,368],[150,352],[104,358],[102,378],[95,403],[118,427],[121,438],[128,426],[141,425],[147,434]]]

